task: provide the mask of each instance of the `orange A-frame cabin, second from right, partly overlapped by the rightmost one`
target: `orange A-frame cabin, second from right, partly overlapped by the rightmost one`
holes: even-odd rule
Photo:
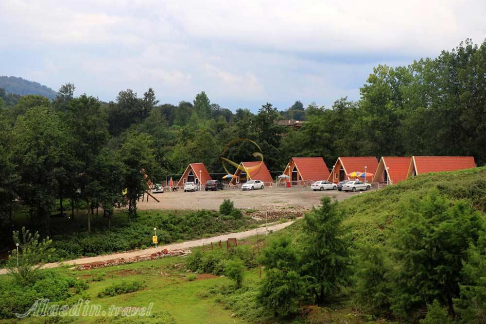
[[[408,177],[408,169],[412,162],[411,156],[382,156],[373,182],[397,184]]]

